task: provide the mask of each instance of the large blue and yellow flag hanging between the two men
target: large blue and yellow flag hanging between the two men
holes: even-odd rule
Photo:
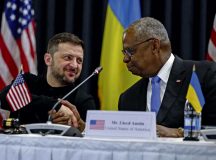
[[[139,79],[127,71],[121,53],[124,29],[139,18],[140,0],[109,0],[98,82],[102,110],[117,110],[119,95]]]

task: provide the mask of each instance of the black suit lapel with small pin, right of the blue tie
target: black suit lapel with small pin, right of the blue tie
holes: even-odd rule
[[[167,114],[169,109],[173,106],[174,102],[180,94],[185,76],[186,70],[183,61],[180,58],[175,57],[161,107],[157,114],[157,123],[160,124],[163,119],[168,116]]]

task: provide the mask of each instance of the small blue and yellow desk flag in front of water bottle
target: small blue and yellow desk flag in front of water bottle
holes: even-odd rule
[[[186,98],[197,113],[200,113],[202,111],[202,107],[205,104],[205,98],[202,93],[199,79],[195,72],[195,65],[193,66],[193,72]]]

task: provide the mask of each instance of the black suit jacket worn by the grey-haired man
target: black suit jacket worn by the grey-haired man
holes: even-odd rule
[[[157,124],[178,128],[184,125],[184,105],[193,65],[205,97],[202,125],[216,125],[216,63],[182,60],[175,57],[164,98],[157,114]],[[148,78],[142,78],[120,95],[118,108],[146,111]]]

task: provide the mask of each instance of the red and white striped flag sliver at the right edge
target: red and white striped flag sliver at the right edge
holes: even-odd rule
[[[209,44],[208,44],[207,56],[209,60],[216,61],[216,14],[215,14],[213,29],[212,29]]]

